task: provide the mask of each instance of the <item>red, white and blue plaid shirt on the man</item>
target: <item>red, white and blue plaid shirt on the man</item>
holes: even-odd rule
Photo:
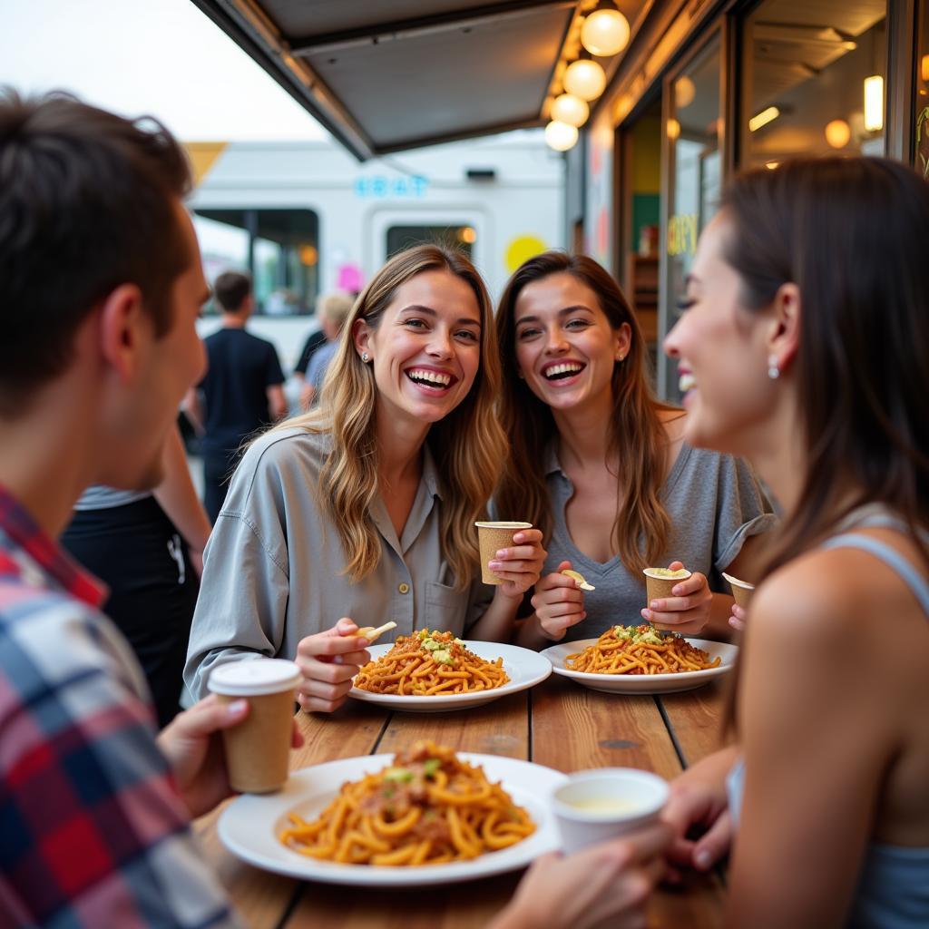
[[[0,925],[236,925],[104,595],[0,487]]]

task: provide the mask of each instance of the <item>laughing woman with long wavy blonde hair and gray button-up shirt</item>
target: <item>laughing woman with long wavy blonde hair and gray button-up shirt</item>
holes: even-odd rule
[[[392,258],[352,309],[320,407],[255,440],[232,478],[204,553],[191,690],[223,661],[282,656],[304,673],[301,705],[330,711],[368,659],[359,626],[507,640],[545,552],[539,530],[519,532],[491,562],[506,582],[479,582],[499,389],[467,258],[432,245]]]

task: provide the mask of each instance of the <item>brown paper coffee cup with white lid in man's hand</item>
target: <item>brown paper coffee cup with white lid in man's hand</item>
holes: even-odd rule
[[[269,793],[287,780],[296,688],[300,669],[293,661],[255,658],[220,664],[208,687],[219,700],[245,698],[248,715],[223,729],[229,786],[242,793]]]

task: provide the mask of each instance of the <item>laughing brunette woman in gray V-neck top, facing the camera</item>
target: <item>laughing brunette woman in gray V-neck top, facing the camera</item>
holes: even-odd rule
[[[746,464],[685,444],[684,412],[653,397],[641,330],[615,281],[585,255],[530,258],[506,286],[497,331],[512,443],[499,514],[542,528],[549,549],[520,644],[643,619],[726,632],[733,601],[711,580],[723,590],[722,570],[749,574],[746,543],[774,517]],[[669,563],[691,576],[647,604],[642,570]]]

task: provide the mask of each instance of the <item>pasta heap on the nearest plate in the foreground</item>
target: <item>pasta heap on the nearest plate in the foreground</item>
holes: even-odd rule
[[[418,866],[476,858],[521,842],[535,824],[482,767],[431,741],[342,790],[312,822],[290,814],[281,842],[342,864]]]

